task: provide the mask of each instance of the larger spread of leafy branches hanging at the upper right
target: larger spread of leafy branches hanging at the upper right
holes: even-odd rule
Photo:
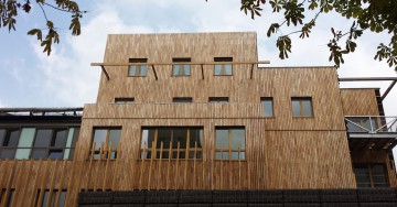
[[[343,55],[353,53],[357,47],[355,41],[362,36],[364,31],[375,33],[387,32],[390,34],[388,44],[380,43],[377,47],[375,59],[386,59],[389,67],[397,70],[397,1],[396,0],[242,0],[242,10],[250,13],[251,19],[261,15],[262,8],[269,6],[273,13],[283,13],[281,23],[272,23],[267,32],[271,36],[281,28],[299,28],[299,30],[286,35],[280,35],[276,46],[279,48],[279,57],[288,58],[291,53],[292,42],[289,37],[300,33],[299,37],[309,37],[315,26],[316,19],[321,14],[334,11],[352,21],[348,31],[342,32],[331,28],[333,39],[330,40],[330,61],[336,67],[344,63]],[[308,13],[315,13],[313,18],[307,19]]]

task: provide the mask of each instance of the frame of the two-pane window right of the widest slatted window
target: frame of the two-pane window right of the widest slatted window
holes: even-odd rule
[[[239,129],[239,130],[244,130],[244,149],[233,149],[232,148],[232,130],[234,129]],[[228,148],[227,149],[219,149],[219,148],[216,148],[216,131],[217,130],[227,130],[227,143],[228,143]],[[247,131],[246,131],[246,127],[245,126],[216,126],[215,127],[215,135],[214,135],[214,160],[215,161],[247,161]],[[227,152],[228,155],[227,157],[228,159],[216,159],[216,153],[224,153],[224,152]],[[244,154],[244,159],[240,159],[240,154],[238,154],[238,159],[233,159],[233,153],[243,153]]]

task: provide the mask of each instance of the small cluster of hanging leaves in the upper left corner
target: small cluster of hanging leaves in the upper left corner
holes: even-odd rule
[[[47,19],[45,13],[46,8],[58,10],[60,12],[71,13],[71,25],[69,30],[72,35],[81,34],[81,23],[79,20],[83,18],[83,13],[86,11],[81,11],[78,4],[72,0],[52,0],[49,3],[49,0],[0,0],[0,29],[8,28],[9,32],[12,30],[15,31],[15,23],[18,12],[21,10],[29,13],[31,8],[36,6],[43,12],[45,19],[45,29],[33,29],[28,32],[29,35],[35,35],[41,42],[41,46],[44,47],[43,52],[51,54],[51,48],[53,43],[60,43],[60,34],[57,33],[57,28],[54,26],[54,23]],[[46,32],[43,39],[43,32]]]

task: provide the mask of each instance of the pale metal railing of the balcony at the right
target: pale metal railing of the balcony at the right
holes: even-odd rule
[[[397,116],[345,116],[347,132],[397,133]]]

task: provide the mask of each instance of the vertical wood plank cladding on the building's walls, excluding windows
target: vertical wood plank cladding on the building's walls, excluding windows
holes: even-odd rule
[[[104,63],[170,63],[175,57],[257,62],[256,34],[111,34]],[[355,188],[344,116],[374,115],[373,90],[341,90],[334,67],[254,65],[251,76],[251,66],[233,65],[232,76],[214,76],[213,65],[192,65],[190,76],[172,76],[171,65],[159,65],[155,76],[149,66],[146,77],[129,77],[127,66],[106,66],[109,79],[103,74],[97,102],[85,105],[73,161],[2,160],[2,194],[15,189],[15,198],[25,199],[13,206],[40,206],[39,189],[67,189],[66,206],[73,206],[81,190]],[[362,96],[365,100],[357,100]],[[127,97],[133,103],[115,103]],[[193,102],[173,103],[174,97]],[[208,103],[210,97],[229,102]],[[272,98],[273,117],[264,116],[261,97]],[[311,98],[313,116],[293,117],[293,97]],[[94,160],[94,129],[111,127],[121,128],[117,159]],[[202,128],[202,159],[141,159],[147,127]],[[245,129],[244,160],[215,159],[217,127]],[[0,205],[6,205],[8,196],[2,197]]]

